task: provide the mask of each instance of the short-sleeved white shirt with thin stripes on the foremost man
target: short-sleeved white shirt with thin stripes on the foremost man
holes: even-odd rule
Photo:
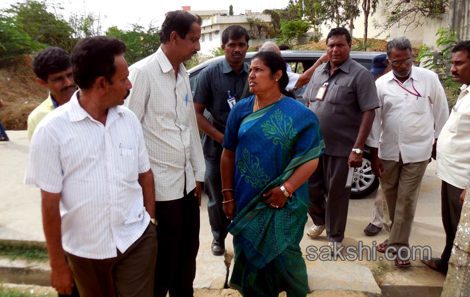
[[[139,173],[150,169],[142,128],[126,107],[108,109],[106,125],[77,99],[39,123],[25,183],[61,193],[62,247],[90,259],[125,252],[148,226]]]

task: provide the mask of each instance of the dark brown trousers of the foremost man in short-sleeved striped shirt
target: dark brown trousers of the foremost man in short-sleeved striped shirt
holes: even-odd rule
[[[155,227],[117,257],[96,260],[65,253],[81,297],[151,297],[157,257]]]

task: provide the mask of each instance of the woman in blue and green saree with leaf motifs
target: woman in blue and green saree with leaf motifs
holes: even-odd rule
[[[286,95],[282,57],[260,52],[248,78],[255,94],[235,104],[221,159],[224,212],[233,222],[235,265],[229,286],[243,296],[308,293],[300,240],[307,179],[325,148],[316,115]]]

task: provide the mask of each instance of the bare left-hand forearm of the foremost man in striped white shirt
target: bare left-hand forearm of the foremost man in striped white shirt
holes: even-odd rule
[[[62,248],[61,218],[59,209],[60,193],[49,193],[41,190],[41,210],[43,229],[46,237],[47,251],[52,268],[66,265]]]

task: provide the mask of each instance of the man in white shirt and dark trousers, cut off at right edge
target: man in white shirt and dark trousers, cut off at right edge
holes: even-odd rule
[[[461,201],[470,181],[470,41],[457,44],[452,52],[450,72],[455,82],[464,85],[437,141],[437,176],[442,180],[441,212],[446,245],[440,258],[423,260],[443,274],[447,274],[462,212]]]

